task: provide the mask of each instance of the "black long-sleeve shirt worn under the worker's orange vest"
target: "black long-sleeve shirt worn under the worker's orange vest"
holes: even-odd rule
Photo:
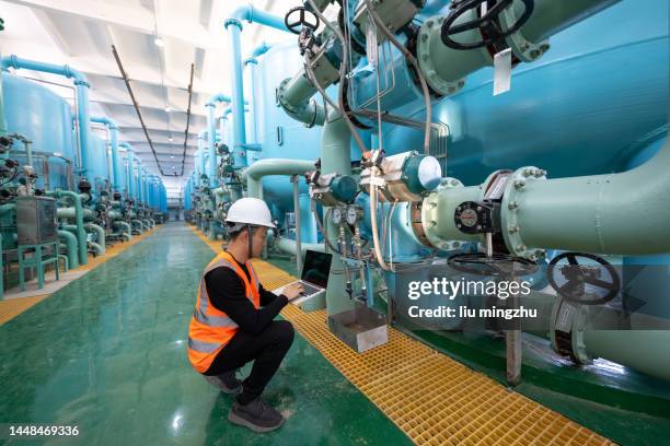
[[[251,282],[246,266],[235,262]],[[259,285],[261,308],[256,309],[244,293],[244,282],[230,268],[209,271],[205,275],[205,286],[213,307],[226,313],[242,331],[254,336],[261,333],[288,304],[284,294],[277,296]]]

